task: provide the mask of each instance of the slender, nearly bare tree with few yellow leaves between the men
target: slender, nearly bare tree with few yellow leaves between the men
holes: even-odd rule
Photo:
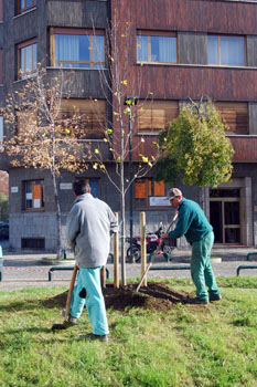
[[[152,101],[153,96],[150,87],[146,95],[140,97],[141,92],[141,72],[131,77],[131,39],[130,22],[121,24],[115,17],[111,27],[107,29],[107,52],[108,67],[99,69],[101,88],[105,93],[107,106],[113,112],[111,118],[107,121],[105,128],[105,142],[113,153],[115,161],[116,176],[118,181],[113,178],[105,166],[105,159],[99,151],[95,149],[93,168],[105,172],[109,181],[115,186],[120,197],[120,239],[121,239],[121,281],[126,285],[126,194],[131,188],[136,178],[146,176],[159,159],[158,144],[152,144],[152,155],[147,156],[140,151],[140,146],[144,143],[143,136],[137,144],[132,145],[132,126],[137,123],[143,112],[146,100]],[[93,48],[94,50],[94,48]],[[96,49],[97,55],[97,49]],[[128,81],[128,79],[130,81]],[[132,81],[131,81],[132,80]],[[132,159],[132,156],[136,158]],[[125,165],[130,164],[130,174],[125,176]],[[131,167],[132,166],[132,167]]]

